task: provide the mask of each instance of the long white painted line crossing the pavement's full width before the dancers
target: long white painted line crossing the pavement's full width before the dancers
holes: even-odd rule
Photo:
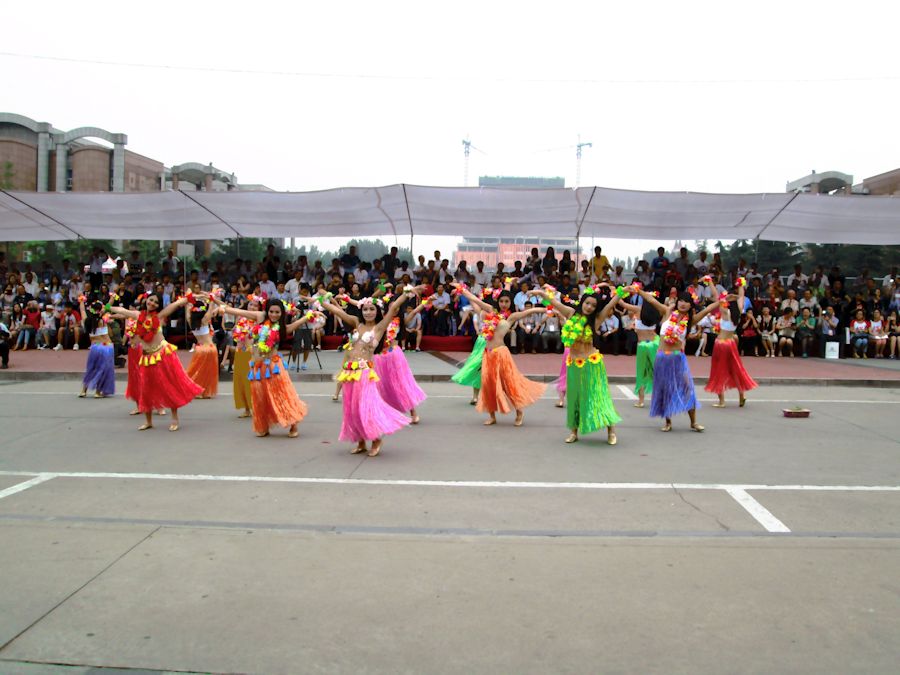
[[[104,473],[0,471],[0,476],[45,476],[50,478],[118,478],[136,480],[221,481],[241,483],[318,483],[331,485],[383,485],[453,488],[539,488],[562,490],[809,490],[829,492],[900,492],[900,485],[732,485],[726,483],[564,483],[550,481],[454,481],[387,480],[365,478],[312,478],[303,476],[217,476],[177,473]],[[12,488],[10,488],[12,489]],[[749,495],[748,495],[749,496]]]

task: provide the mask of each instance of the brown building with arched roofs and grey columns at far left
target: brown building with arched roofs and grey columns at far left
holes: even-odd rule
[[[99,127],[62,131],[48,122],[0,113],[0,184],[34,192],[162,190],[163,163],[126,150],[127,144],[125,134]]]

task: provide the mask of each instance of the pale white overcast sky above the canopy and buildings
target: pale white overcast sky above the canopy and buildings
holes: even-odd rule
[[[783,192],[812,169],[859,182],[900,165],[895,2],[45,0],[3,11],[0,111],[124,132],[167,166],[212,162],[276,190],[462,185],[466,137],[482,151],[470,184],[561,175],[574,186],[579,134],[593,143],[582,185]]]

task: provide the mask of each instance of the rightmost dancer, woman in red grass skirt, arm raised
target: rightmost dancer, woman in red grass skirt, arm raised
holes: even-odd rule
[[[738,405],[743,408],[747,402],[745,391],[756,389],[756,381],[744,369],[741,355],[738,353],[737,324],[744,313],[744,287],[747,280],[741,277],[737,280],[737,295],[719,297],[719,319],[717,322],[718,335],[713,345],[712,364],[709,369],[709,380],[706,383],[706,391],[717,394],[718,403],[713,403],[713,408],[725,407],[725,390],[738,390]]]

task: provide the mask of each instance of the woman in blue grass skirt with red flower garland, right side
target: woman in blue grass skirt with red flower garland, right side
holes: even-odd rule
[[[692,288],[681,293],[674,307],[666,307],[652,293],[629,286],[629,292],[636,292],[660,313],[662,325],[659,331],[659,351],[653,366],[653,394],[650,399],[650,416],[666,420],[662,431],[672,430],[672,417],[686,412],[691,419],[691,430],[703,431],[697,423],[697,394],[694,378],[684,355],[687,334],[694,324],[718,308],[719,303],[695,312],[697,296]]]

